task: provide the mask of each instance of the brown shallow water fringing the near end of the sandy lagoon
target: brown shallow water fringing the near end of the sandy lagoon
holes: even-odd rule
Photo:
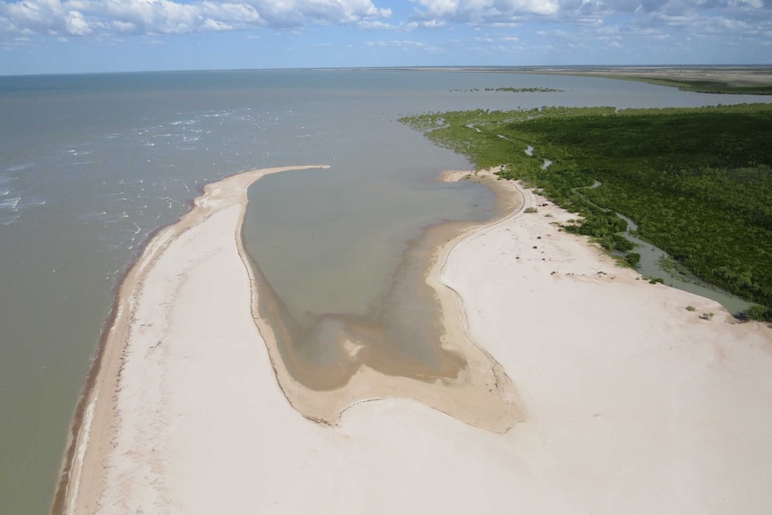
[[[458,187],[481,186],[462,182]],[[496,187],[494,181],[487,181],[486,188],[495,194],[495,202],[484,223],[500,219],[514,207],[510,194]],[[381,373],[425,381],[455,378],[467,364],[462,356],[441,346],[445,334],[442,310],[426,276],[436,262],[440,246],[479,223],[479,220],[446,221],[421,230],[419,236],[407,241],[399,257],[394,253],[396,267],[388,277],[382,277],[386,291],[378,295],[378,290],[373,289],[376,296],[364,313],[306,312],[295,316],[272,287],[260,264],[252,260],[261,292],[260,314],[277,335],[279,352],[288,372],[296,381],[314,390],[342,387],[361,365]],[[251,245],[253,253],[260,253],[255,249],[260,245]],[[366,252],[346,253],[346,259],[352,262],[366,257]],[[284,271],[292,273],[292,270]],[[371,268],[369,272],[377,275],[383,270]],[[358,288],[351,291],[352,296],[361,295]],[[323,296],[317,302],[323,303]]]

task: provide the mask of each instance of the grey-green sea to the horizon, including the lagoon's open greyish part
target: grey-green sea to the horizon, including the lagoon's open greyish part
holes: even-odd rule
[[[469,91],[499,87],[565,92]],[[466,160],[400,125],[399,116],[761,100],[509,73],[0,77],[2,511],[48,510],[117,282],[200,185],[256,167],[330,165],[257,183],[248,243],[299,316],[363,313],[423,227],[492,212],[484,189],[435,182],[443,168],[467,167]]]

